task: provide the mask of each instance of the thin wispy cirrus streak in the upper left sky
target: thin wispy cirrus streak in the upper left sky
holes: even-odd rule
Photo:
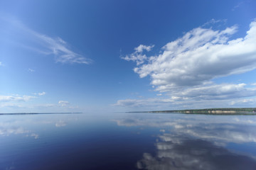
[[[11,17],[1,17],[0,23],[4,28],[8,28],[9,40],[16,42],[20,47],[32,50],[43,55],[54,55],[55,62],[63,64],[91,64],[92,60],[71,49],[68,42],[56,36],[38,33],[36,30],[28,28],[21,21]],[[4,30],[3,28],[3,30]],[[13,36],[16,35],[16,36]]]

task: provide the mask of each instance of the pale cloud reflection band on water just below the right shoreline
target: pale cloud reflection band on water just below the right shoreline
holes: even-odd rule
[[[174,115],[174,114],[172,114]],[[196,118],[193,118],[196,117]],[[252,118],[252,120],[250,120]],[[228,142],[256,142],[255,116],[222,115],[174,115],[162,118],[127,118],[114,120],[121,126],[147,126],[161,128],[161,132],[171,132],[182,136],[208,140],[222,145]],[[161,140],[169,141],[169,135],[159,135]]]

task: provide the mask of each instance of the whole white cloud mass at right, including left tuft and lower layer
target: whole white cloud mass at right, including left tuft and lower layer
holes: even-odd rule
[[[194,28],[164,45],[159,55],[142,55],[145,47],[140,45],[134,53],[122,58],[137,62],[134,72],[141,78],[149,76],[154,90],[165,92],[171,102],[247,98],[256,95],[255,88],[242,83],[213,82],[215,78],[256,69],[256,21],[250,23],[244,38],[230,39],[237,31],[237,26],[224,30]],[[128,105],[133,102],[127,99],[117,104],[124,101]]]

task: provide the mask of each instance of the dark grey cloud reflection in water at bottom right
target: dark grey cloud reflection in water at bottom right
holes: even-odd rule
[[[181,140],[181,138],[180,138]],[[144,153],[138,169],[255,169],[252,157],[235,154],[206,140],[185,140],[180,143],[157,142],[153,157]]]

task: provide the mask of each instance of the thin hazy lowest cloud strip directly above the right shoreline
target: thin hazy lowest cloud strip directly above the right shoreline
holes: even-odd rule
[[[231,96],[231,94],[230,94]],[[205,96],[206,97],[206,96]],[[222,97],[222,98],[221,98]],[[227,108],[227,107],[255,107],[256,98],[227,98],[227,96],[202,96],[187,98],[171,96],[170,98],[145,98],[145,99],[123,99],[118,100],[112,106],[126,107],[130,111],[157,111],[157,110],[178,110],[198,108]]]

